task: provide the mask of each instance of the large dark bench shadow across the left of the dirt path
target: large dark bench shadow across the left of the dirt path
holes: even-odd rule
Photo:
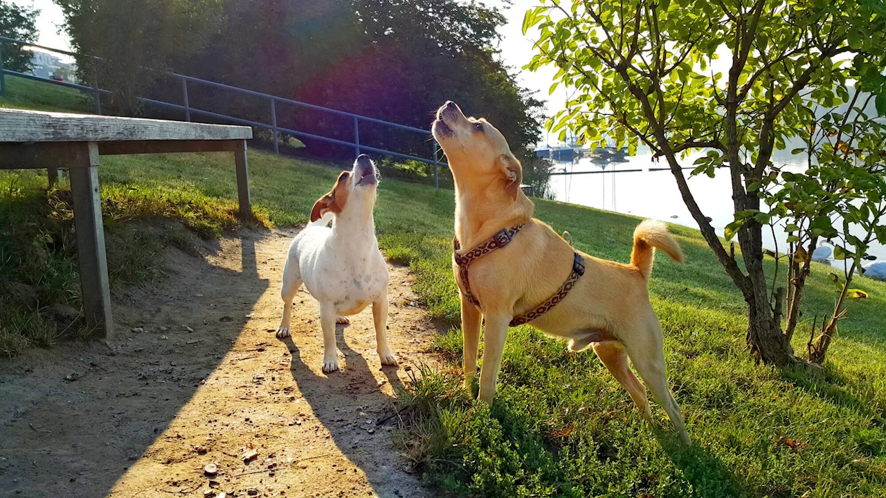
[[[115,486],[152,460],[149,448],[245,330],[245,314],[268,289],[255,254],[255,239],[267,234],[232,237],[239,271],[171,249],[165,282],[113,292],[112,341],[72,341],[0,362],[0,398],[12,405],[0,410],[0,496],[118,495]],[[218,255],[220,242],[202,250]],[[184,495],[167,478],[144,495]]]

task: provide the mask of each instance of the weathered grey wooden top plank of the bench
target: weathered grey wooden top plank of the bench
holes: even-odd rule
[[[91,114],[0,109],[0,142],[242,140],[253,128]]]

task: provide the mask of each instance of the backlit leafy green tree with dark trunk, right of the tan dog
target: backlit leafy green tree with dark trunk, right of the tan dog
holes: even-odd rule
[[[882,0],[547,0],[526,12],[539,28],[529,67],[556,65],[578,96],[550,121],[593,147],[642,142],[664,158],[689,212],[748,309],[747,342],[764,362],[797,362],[781,327],[779,292],[764,272],[760,189],[777,179],[773,150],[809,128],[812,107],[849,100],[854,75],[886,68]],[[727,58],[727,74],[715,62]],[[886,86],[870,84],[881,113]],[[743,265],[723,245],[689,190],[680,162],[707,150],[694,174],[729,175]],[[743,268],[742,268],[743,266]]]

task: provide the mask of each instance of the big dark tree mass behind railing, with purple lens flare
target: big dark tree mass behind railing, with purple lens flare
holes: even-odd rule
[[[455,0],[227,0],[225,12],[228,23],[206,51],[181,61],[180,72],[424,129],[431,110],[452,99],[501,123],[518,155],[532,154],[541,103],[497,57],[497,28],[505,19],[494,9]],[[229,94],[195,92],[191,102],[269,118],[266,104]],[[354,139],[349,118],[279,103],[276,111],[282,127]],[[360,136],[361,144],[431,153],[427,136],[366,122]],[[353,153],[304,141],[315,155]]]

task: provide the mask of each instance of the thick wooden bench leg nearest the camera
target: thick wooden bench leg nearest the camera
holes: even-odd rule
[[[77,162],[70,165],[68,175],[71,178],[71,198],[74,202],[83,313],[86,315],[86,327],[90,334],[111,338],[111,292],[105,257],[102,204],[98,196],[98,145],[89,142],[71,146],[82,148],[77,155]]]

